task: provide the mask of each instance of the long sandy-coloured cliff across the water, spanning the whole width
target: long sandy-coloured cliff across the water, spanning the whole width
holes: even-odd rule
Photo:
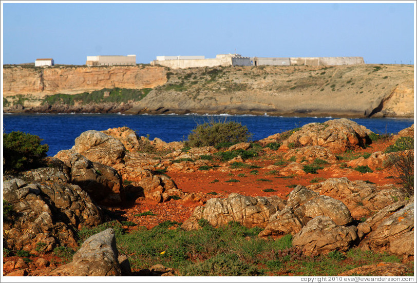
[[[412,117],[413,75],[410,65],[9,67],[4,68],[4,111]],[[43,101],[55,93],[116,87],[153,90],[141,100],[111,106]]]

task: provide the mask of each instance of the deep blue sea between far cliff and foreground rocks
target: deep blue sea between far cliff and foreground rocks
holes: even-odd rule
[[[4,114],[3,131],[22,131],[37,135],[49,145],[48,156],[63,149],[70,149],[74,139],[88,130],[107,130],[126,126],[139,136],[149,135],[170,141],[185,140],[198,125],[209,120],[239,122],[253,133],[252,140],[302,127],[308,123],[323,123],[332,117],[276,117],[253,115],[123,115],[123,114]],[[396,134],[410,127],[413,119],[357,118],[351,119],[379,134]]]

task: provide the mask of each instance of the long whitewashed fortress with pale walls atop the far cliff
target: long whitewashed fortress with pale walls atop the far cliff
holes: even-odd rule
[[[216,58],[204,56],[157,56],[151,66],[172,69],[215,66],[335,66],[365,64],[363,57],[243,57],[240,54],[220,54]]]

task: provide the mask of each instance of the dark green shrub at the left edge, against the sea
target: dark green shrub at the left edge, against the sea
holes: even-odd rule
[[[42,140],[21,131],[3,134],[4,170],[13,172],[40,166],[49,149],[48,145],[41,145]]]

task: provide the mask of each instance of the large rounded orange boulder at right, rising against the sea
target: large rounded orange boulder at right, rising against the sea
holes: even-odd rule
[[[364,147],[370,130],[349,119],[328,120],[325,123],[304,125],[284,140],[280,150],[288,150],[289,144],[321,146],[332,153],[345,152],[351,148]]]

